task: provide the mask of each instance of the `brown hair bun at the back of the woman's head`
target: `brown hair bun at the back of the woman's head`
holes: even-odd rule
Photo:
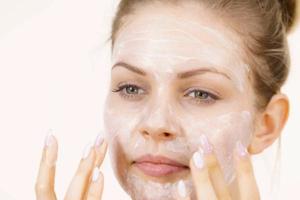
[[[286,27],[286,32],[290,33],[296,26],[299,19],[300,0],[279,0],[281,4],[282,20]]]

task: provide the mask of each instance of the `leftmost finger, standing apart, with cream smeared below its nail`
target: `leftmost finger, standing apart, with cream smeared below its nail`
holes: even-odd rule
[[[57,150],[57,140],[52,136],[52,130],[49,129],[45,137],[44,148],[35,183],[36,199],[56,199],[54,192],[54,178]]]

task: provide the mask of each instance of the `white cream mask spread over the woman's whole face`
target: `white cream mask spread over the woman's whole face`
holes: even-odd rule
[[[240,139],[248,146],[253,129],[250,114],[245,110],[247,103],[233,101],[217,110],[209,109],[209,105],[205,109],[195,108],[185,102],[174,102],[168,91],[176,78],[175,72],[182,70],[181,65],[198,60],[205,67],[213,66],[228,74],[236,92],[242,93],[248,69],[237,52],[238,45],[220,31],[174,15],[140,15],[121,31],[113,48],[113,64],[124,59],[134,65],[142,63],[137,65],[150,71],[155,79],[155,89],[149,94],[151,100],[145,103],[131,101],[124,106],[111,96],[106,101],[104,118],[113,169],[133,199],[174,199],[177,180],[144,180],[124,169],[124,160],[151,153],[187,164],[199,146],[201,134],[213,144],[226,182],[232,181],[235,141]],[[145,139],[141,131],[149,127],[163,127],[174,138],[161,142]],[[189,177],[186,181],[193,195],[192,181]]]

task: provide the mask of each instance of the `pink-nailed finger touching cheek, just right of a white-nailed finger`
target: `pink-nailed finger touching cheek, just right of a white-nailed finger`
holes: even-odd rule
[[[211,143],[206,135],[200,136],[201,149],[204,154],[204,162],[208,169],[209,178],[218,200],[232,199],[223,172],[215,156]]]

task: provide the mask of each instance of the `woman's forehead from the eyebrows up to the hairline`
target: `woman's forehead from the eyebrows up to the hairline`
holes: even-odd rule
[[[242,82],[247,70],[242,52],[240,37],[222,22],[205,13],[179,15],[164,8],[156,13],[139,11],[127,20],[114,42],[112,62],[136,60],[143,63],[140,67],[164,70],[167,66],[174,71],[197,60],[194,65],[217,67]]]

